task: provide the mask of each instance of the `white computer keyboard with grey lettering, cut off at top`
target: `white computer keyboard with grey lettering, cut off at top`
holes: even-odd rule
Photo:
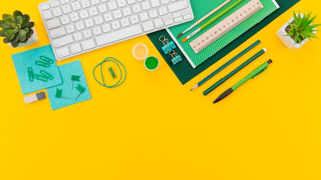
[[[38,8],[57,60],[194,18],[189,0],[52,0]]]

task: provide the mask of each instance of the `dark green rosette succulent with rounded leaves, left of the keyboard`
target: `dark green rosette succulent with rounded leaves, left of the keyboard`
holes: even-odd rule
[[[5,37],[4,42],[11,42],[12,47],[17,47],[19,42],[25,43],[33,34],[31,29],[34,22],[30,21],[28,14],[16,10],[13,15],[3,14],[3,20],[0,20],[0,36]]]

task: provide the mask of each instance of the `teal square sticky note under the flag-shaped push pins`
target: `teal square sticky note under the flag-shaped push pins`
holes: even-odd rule
[[[47,88],[47,95],[52,110],[91,99],[89,88],[83,71],[83,66],[80,60],[64,65],[59,65],[58,69],[61,74],[63,83]],[[71,83],[72,76],[77,76],[77,80]],[[85,91],[83,93],[79,92],[79,87],[82,87],[82,89],[85,88]],[[56,97],[57,89],[62,97]]]

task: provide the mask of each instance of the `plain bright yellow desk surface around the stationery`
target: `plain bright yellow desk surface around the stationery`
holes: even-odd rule
[[[41,2],[3,1],[0,6],[1,14],[16,9],[29,14],[39,36],[22,48],[0,43],[0,179],[321,179],[321,41],[290,50],[276,37],[293,10],[321,14],[320,1],[300,1],[185,85],[147,36],[57,61],[81,59],[92,96],[57,110],[51,110],[48,98],[24,103],[11,58],[49,44],[37,8]],[[315,23],[321,23],[321,15]],[[257,39],[262,43],[255,50],[190,91]],[[136,43],[146,44],[149,55],[160,59],[157,71],[145,70],[143,61],[134,59]],[[264,55],[203,96],[262,48]],[[126,81],[113,89],[92,76],[94,66],[108,56],[127,69]],[[212,103],[268,59],[273,63],[265,73]]]

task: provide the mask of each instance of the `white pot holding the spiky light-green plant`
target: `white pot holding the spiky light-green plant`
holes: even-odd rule
[[[298,15],[298,14],[296,14]],[[303,14],[300,13],[300,16],[303,17]],[[295,41],[292,39],[291,36],[286,36],[286,34],[288,34],[286,32],[286,28],[289,26],[289,23],[293,22],[294,17],[292,17],[285,25],[283,25],[277,32],[276,35],[277,37],[285,44],[286,47],[288,47],[289,49],[298,49],[300,47],[303,46],[303,44],[305,44],[309,39],[305,38],[304,40],[301,41],[300,43],[295,43]],[[315,33],[315,32],[313,32]]]

